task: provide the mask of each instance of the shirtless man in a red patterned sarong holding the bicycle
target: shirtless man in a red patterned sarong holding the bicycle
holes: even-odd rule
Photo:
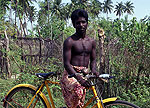
[[[96,42],[86,35],[88,14],[85,10],[77,9],[73,11],[71,20],[76,32],[64,41],[65,71],[61,86],[67,107],[81,108],[85,99],[85,87],[90,87],[91,84],[76,73],[87,74],[90,64],[91,73],[98,76],[96,72]],[[68,78],[68,75],[74,77]]]

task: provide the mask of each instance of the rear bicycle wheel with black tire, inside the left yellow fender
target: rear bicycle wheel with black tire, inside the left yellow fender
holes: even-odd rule
[[[19,86],[12,89],[6,96],[4,107],[5,108],[26,108],[34,96],[36,90],[31,87]],[[38,99],[38,100],[37,100]],[[36,102],[37,100],[37,102]],[[34,99],[34,102],[31,104],[30,108],[34,106],[34,108],[47,108],[44,99],[38,93]]]

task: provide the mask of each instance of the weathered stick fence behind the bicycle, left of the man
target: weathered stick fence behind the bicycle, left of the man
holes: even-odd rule
[[[6,59],[7,53],[6,40],[0,39],[0,74],[1,77],[7,77],[8,75],[8,61]],[[18,37],[9,40],[10,48],[15,47],[21,51],[21,59],[28,64],[42,64],[48,62],[48,58],[55,57],[62,61],[62,44],[59,41],[53,41],[50,39],[42,38],[25,38]],[[10,51],[13,49],[10,49]],[[11,56],[10,59],[15,61],[15,58]],[[17,62],[16,62],[17,63]]]

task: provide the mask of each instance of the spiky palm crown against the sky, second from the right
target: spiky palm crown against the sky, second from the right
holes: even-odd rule
[[[123,5],[122,2],[120,2],[120,3],[117,2],[114,12],[116,12],[116,16],[119,16],[119,19],[120,19],[120,16],[123,15],[124,8],[125,8],[125,6]]]

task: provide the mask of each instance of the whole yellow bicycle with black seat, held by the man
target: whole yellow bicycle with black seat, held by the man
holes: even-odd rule
[[[48,77],[56,76],[56,74],[53,72],[36,73],[36,76],[43,79],[43,82],[39,87],[36,88],[31,84],[19,84],[14,86],[4,98],[3,106],[5,108],[55,108],[55,103],[48,84],[51,83],[59,85],[60,83],[50,81],[48,80]],[[102,100],[102,97],[98,96],[96,83],[94,84],[93,79],[100,79],[107,82],[111,78],[109,74],[102,74],[99,78],[96,78],[94,75],[86,75],[85,77],[91,81],[92,86],[88,89],[92,90],[93,96],[85,103],[83,108],[89,108],[90,103],[93,101],[96,102],[92,108],[140,108],[132,103],[118,100],[117,97]],[[49,100],[42,93],[44,86],[46,86]]]

